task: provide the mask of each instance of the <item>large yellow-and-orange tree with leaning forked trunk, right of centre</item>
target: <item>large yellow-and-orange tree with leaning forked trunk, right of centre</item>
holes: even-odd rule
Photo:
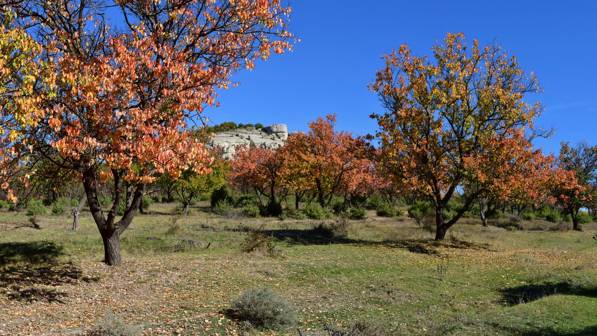
[[[435,206],[436,240],[484,193],[533,188],[530,177],[545,162],[527,136],[540,134],[533,120],[541,105],[525,99],[541,90],[516,57],[448,33],[430,59],[413,56],[407,45],[383,59],[386,67],[369,86],[385,109],[371,115],[380,127],[380,164],[396,184]],[[444,221],[448,201],[466,184],[475,184],[474,191]]]

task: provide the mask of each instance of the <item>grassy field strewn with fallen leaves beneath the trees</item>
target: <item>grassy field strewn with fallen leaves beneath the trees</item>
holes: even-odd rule
[[[321,221],[224,218],[205,202],[177,219],[173,207],[134,219],[119,267],[101,262],[88,212],[76,232],[66,216],[41,216],[35,230],[24,213],[0,213],[0,334],[88,334],[110,319],[152,335],[327,335],[320,321],[377,335],[597,334],[595,223],[508,230],[464,219],[435,243],[413,219],[373,211],[334,239],[312,230]],[[257,228],[277,253],[240,252]],[[263,286],[296,306],[297,325],[254,329],[222,313]]]

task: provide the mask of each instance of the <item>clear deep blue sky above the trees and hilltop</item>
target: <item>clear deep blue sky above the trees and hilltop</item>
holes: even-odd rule
[[[284,123],[295,131],[336,113],[338,129],[373,133],[368,116],[381,106],[367,84],[383,66],[381,54],[406,43],[428,55],[450,31],[482,45],[497,38],[535,71],[545,92],[529,98],[546,108],[536,124],[556,129],[537,142],[545,151],[558,151],[561,141],[597,145],[595,1],[294,0],[291,6],[291,30],[302,41],[239,75],[239,87],[221,91],[221,106],[204,111],[215,123]]]

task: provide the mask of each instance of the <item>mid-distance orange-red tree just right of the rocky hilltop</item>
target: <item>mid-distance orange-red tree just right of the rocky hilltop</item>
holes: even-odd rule
[[[340,194],[350,173],[367,160],[365,140],[337,132],[335,124],[336,115],[320,117],[309,123],[308,133],[296,133],[284,145],[287,169],[304,178],[306,189],[318,197],[322,207]]]

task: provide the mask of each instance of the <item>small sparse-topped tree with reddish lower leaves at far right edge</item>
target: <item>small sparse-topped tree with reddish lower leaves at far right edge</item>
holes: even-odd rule
[[[564,213],[571,216],[574,230],[580,230],[578,212],[581,207],[590,206],[597,197],[597,146],[589,146],[586,142],[576,146],[562,143],[558,165],[573,173],[577,184],[558,186],[554,188],[553,196]]]

